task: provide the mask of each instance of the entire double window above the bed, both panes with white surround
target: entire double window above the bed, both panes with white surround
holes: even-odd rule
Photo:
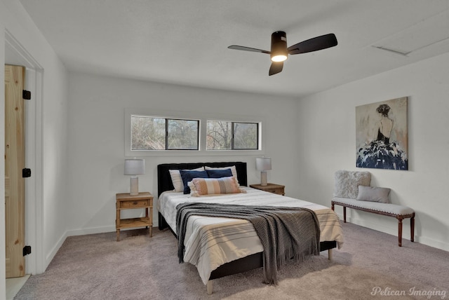
[[[264,155],[262,116],[125,109],[127,157]]]

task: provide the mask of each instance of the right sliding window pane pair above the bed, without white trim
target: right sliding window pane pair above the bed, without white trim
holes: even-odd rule
[[[259,149],[259,123],[207,121],[207,150]]]

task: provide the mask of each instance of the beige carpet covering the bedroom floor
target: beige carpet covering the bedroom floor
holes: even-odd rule
[[[32,275],[15,299],[448,299],[449,252],[354,224],[345,243],[299,265],[283,266],[279,285],[257,269],[214,281],[208,296],[196,268],[178,264],[170,231],[72,236],[45,273]],[[406,226],[405,226],[406,228]]]

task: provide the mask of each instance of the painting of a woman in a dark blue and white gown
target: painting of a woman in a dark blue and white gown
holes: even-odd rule
[[[356,107],[356,167],[408,170],[408,97]]]

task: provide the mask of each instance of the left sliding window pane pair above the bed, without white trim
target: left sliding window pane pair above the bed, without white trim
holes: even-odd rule
[[[199,150],[199,120],[132,115],[131,150]]]

